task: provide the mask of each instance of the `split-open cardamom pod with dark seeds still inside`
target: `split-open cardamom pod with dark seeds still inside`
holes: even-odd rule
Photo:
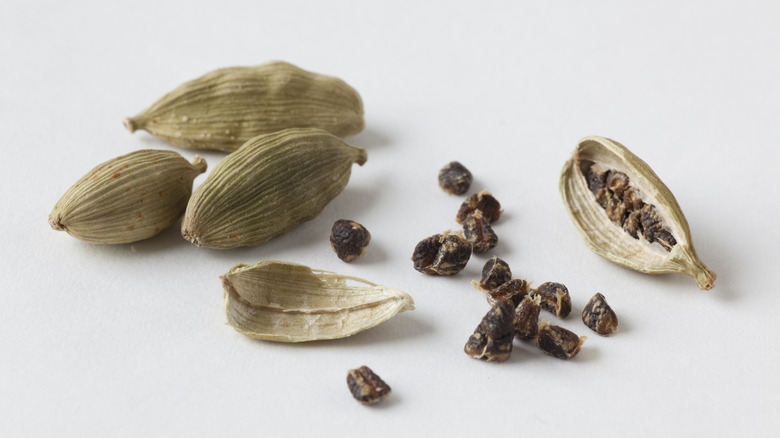
[[[580,140],[560,178],[563,202],[596,254],[648,274],[679,272],[712,289],[716,275],[699,259],[688,221],[650,166],[620,143]]]

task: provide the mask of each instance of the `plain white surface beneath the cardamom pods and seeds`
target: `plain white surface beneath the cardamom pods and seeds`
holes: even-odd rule
[[[247,3],[0,6],[0,435],[780,433],[777,2]],[[230,251],[176,227],[132,246],[48,227],[104,160],[194,155],[123,117],[212,69],[274,59],[341,77],[365,102],[349,141],[368,162],[317,219]],[[627,145],[672,189],[715,289],[586,249],[557,187],[586,135]],[[204,156],[213,168],[223,155]],[[453,159],[504,205],[493,253],[568,285],[561,325],[589,337],[575,360],[520,342],[502,364],[463,354],[488,309],[469,284],[487,257],[452,278],[409,261],[456,226],[462,198],[436,185]],[[327,240],[341,217],[373,235],[352,264]],[[417,310],[339,341],[253,341],[225,325],[218,276],[268,258],[402,289]],[[596,291],[620,317],[614,337],[576,316]],[[386,403],[348,394],[362,364],[392,386]]]

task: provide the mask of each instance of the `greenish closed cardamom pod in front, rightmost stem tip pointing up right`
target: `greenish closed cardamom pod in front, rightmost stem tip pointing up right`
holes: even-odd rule
[[[349,181],[365,149],[315,128],[249,140],[192,194],[182,235],[198,246],[258,245],[313,219]]]

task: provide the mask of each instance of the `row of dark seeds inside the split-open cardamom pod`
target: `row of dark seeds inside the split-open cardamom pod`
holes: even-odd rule
[[[641,236],[649,243],[658,242],[667,251],[677,245],[672,233],[663,226],[658,209],[642,200],[628,175],[591,162],[586,162],[584,169],[588,188],[612,222],[634,239]]]

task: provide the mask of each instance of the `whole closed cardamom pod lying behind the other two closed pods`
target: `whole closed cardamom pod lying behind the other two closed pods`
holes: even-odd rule
[[[220,68],[186,82],[124,120],[176,146],[234,151],[250,138],[287,128],[339,137],[363,130],[360,95],[341,79],[276,61]]]

